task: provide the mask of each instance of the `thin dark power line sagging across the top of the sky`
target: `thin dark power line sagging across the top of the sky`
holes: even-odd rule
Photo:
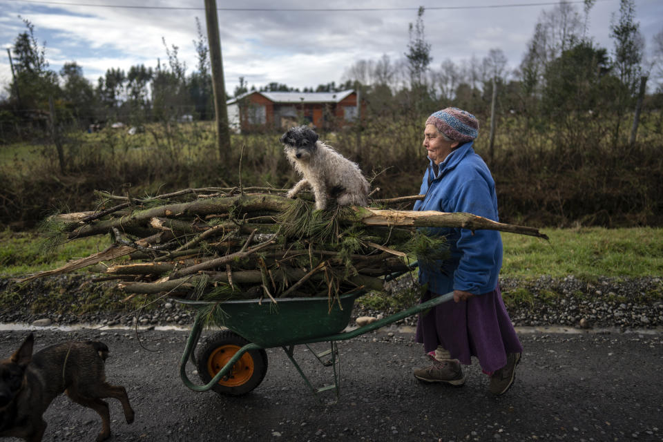
[[[37,3],[55,6],[85,6],[88,8],[119,8],[119,9],[148,9],[148,10],[204,10],[193,6],[140,6],[140,5],[99,5],[93,3],[74,3],[70,1],[42,1],[42,0],[13,0],[21,3]],[[616,0],[597,0],[616,1]],[[585,3],[584,0],[567,1],[566,3]],[[559,1],[546,1],[541,3],[508,3],[477,6],[425,6],[425,10],[461,10],[461,9],[495,9],[495,8],[525,8],[532,6],[555,6]],[[376,12],[376,11],[409,11],[419,10],[419,7],[404,8],[217,8],[220,11],[231,12]]]

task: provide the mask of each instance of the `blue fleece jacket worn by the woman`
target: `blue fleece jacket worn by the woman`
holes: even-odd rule
[[[429,159],[430,160],[430,159]],[[439,170],[436,170],[439,169]],[[423,201],[416,211],[467,212],[499,221],[495,182],[488,166],[474,153],[472,142],[456,148],[436,168],[432,161],[423,175]],[[486,294],[497,287],[502,267],[502,239],[499,231],[426,228],[430,235],[444,235],[450,258],[419,262],[419,282],[436,294],[452,290]]]

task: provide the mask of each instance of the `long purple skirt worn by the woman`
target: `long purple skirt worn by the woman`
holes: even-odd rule
[[[431,296],[438,295],[427,291],[421,302]],[[452,358],[465,365],[470,365],[471,357],[476,356],[483,371],[488,373],[506,365],[508,353],[523,351],[499,287],[467,301],[451,300],[422,311],[415,339],[423,343],[425,352],[441,345]]]

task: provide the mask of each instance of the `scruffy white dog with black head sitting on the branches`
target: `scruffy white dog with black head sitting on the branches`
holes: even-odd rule
[[[339,206],[366,206],[369,184],[359,166],[318,141],[318,134],[307,126],[290,128],[280,138],[285,155],[302,175],[302,180],[290,189],[288,198],[306,184],[313,189],[316,209],[326,209],[329,198]]]

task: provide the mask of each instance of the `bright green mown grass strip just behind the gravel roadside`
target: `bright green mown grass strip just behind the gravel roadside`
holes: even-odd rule
[[[542,229],[550,241],[502,233],[504,262],[501,275],[517,278],[555,278],[574,275],[638,278],[663,275],[663,229]],[[110,244],[106,236],[81,238],[56,251],[44,251],[37,233],[0,232],[0,274],[21,276],[55,269]]]

